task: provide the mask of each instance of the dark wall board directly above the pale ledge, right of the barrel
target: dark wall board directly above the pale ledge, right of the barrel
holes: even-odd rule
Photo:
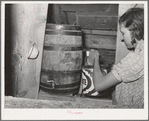
[[[77,14],[76,21],[83,29],[117,30],[117,15]]]

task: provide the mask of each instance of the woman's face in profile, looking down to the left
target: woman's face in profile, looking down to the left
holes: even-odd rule
[[[134,45],[132,45],[131,41],[131,32],[128,30],[128,28],[125,28],[125,26],[122,24],[120,26],[120,32],[121,32],[121,40],[125,43],[127,49],[134,48]]]

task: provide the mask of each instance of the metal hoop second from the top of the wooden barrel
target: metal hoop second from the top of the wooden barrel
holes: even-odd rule
[[[50,35],[52,35],[52,34],[54,34],[54,35],[70,35],[70,36],[82,36],[82,33],[81,33],[81,31],[80,32],[71,32],[71,31],[59,31],[59,30],[57,30],[57,31],[55,31],[55,30],[53,30],[53,31],[49,31],[49,30],[47,30],[46,29],[46,31],[45,31],[45,34],[50,34]]]

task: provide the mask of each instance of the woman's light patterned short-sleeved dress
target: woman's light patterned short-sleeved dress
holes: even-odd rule
[[[121,82],[115,89],[116,104],[144,107],[144,41],[120,63],[113,66],[113,75]]]

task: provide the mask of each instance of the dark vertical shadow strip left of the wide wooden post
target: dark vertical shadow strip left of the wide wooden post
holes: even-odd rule
[[[11,51],[12,51],[12,41],[11,41],[11,5],[5,5],[5,95],[13,96],[14,84],[11,78]]]

